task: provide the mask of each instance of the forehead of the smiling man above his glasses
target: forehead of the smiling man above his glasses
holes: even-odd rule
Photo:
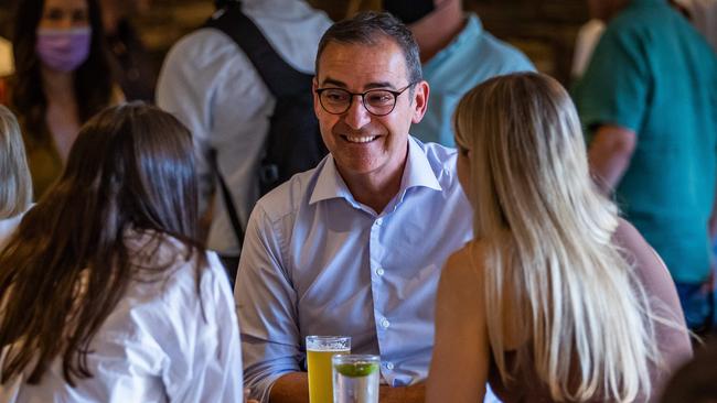
[[[396,87],[407,79],[406,58],[390,40],[375,44],[339,43],[327,45],[319,59],[319,85],[339,87]]]

